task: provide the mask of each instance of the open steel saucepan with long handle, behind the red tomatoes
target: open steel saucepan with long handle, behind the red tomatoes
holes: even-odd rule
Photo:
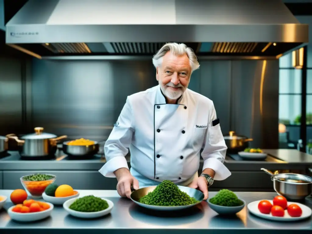
[[[261,168],[261,170],[271,175],[275,192],[287,200],[303,200],[312,193],[312,178],[310,176],[296,173],[273,174],[265,168]]]

